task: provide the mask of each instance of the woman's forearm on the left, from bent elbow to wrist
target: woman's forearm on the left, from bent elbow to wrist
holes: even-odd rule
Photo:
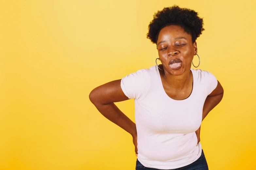
[[[130,120],[114,103],[93,103],[98,111],[111,122],[115,123],[129,134],[137,135],[136,124]]]

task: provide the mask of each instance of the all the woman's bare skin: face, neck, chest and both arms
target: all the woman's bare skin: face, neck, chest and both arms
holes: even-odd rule
[[[177,39],[184,37],[185,39]],[[160,43],[161,41],[164,41]],[[184,32],[182,27],[169,25],[161,29],[157,50],[162,64],[159,70],[164,91],[174,100],[183,100],[190,96],[193,89],[193,75],[190,71],[192,60],[197,53],[196,42],[192,43],[190,34]],[[169,62],[179,59],[182,62],[181,68],[173,70],[169,67]],[[129,98],[121,89],[121,79],[114,80],[98,86],[89,94],[90,101],[98,111],[129,134],[133,138],[136,156],[137,150],[137,130],[136,124],[130,120],[114,102],[121,102]],[[217,87],[209,94],[203,106],[202,120],[207,114],[218,105],[223,97],[223,88],[218,81]],[[196,130],[197,144],[200,141],[200,128]]]

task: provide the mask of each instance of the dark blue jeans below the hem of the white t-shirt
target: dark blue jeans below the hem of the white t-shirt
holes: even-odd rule
[[[145,167],[137,159],[135,170],[160,170],[160,169]],[[209,170],[209,169],[208,169],[208,165],[207,165],[207,162],[206,162],[206,159],[205,159],[205,156],[204,156],[204,152],[203,152],[203,149],[202,149],[201,156],[195,162],[193,162],[189,165],[180,167],[180,168],[169,169],[169,170]]]

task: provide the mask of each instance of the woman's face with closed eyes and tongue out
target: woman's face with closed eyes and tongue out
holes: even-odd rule
[[[196,42],[192,43],[191,35],[177,25],[161,29],[157,50],[164,71],[176,76],[190,71],[191,62],[197,53]]]

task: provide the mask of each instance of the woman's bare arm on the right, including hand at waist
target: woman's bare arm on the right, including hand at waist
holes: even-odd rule
[[[220,103],[220,101],[222,100],[223,94],[224,94],[224,90],[220,82],[218,81],[217,87],[205,99],[204,106],[203,106],[202,121],[208,115],[208,113]],[[200,129],[201,129],[201,126],[196,130],[197,144],[200,142]]]

